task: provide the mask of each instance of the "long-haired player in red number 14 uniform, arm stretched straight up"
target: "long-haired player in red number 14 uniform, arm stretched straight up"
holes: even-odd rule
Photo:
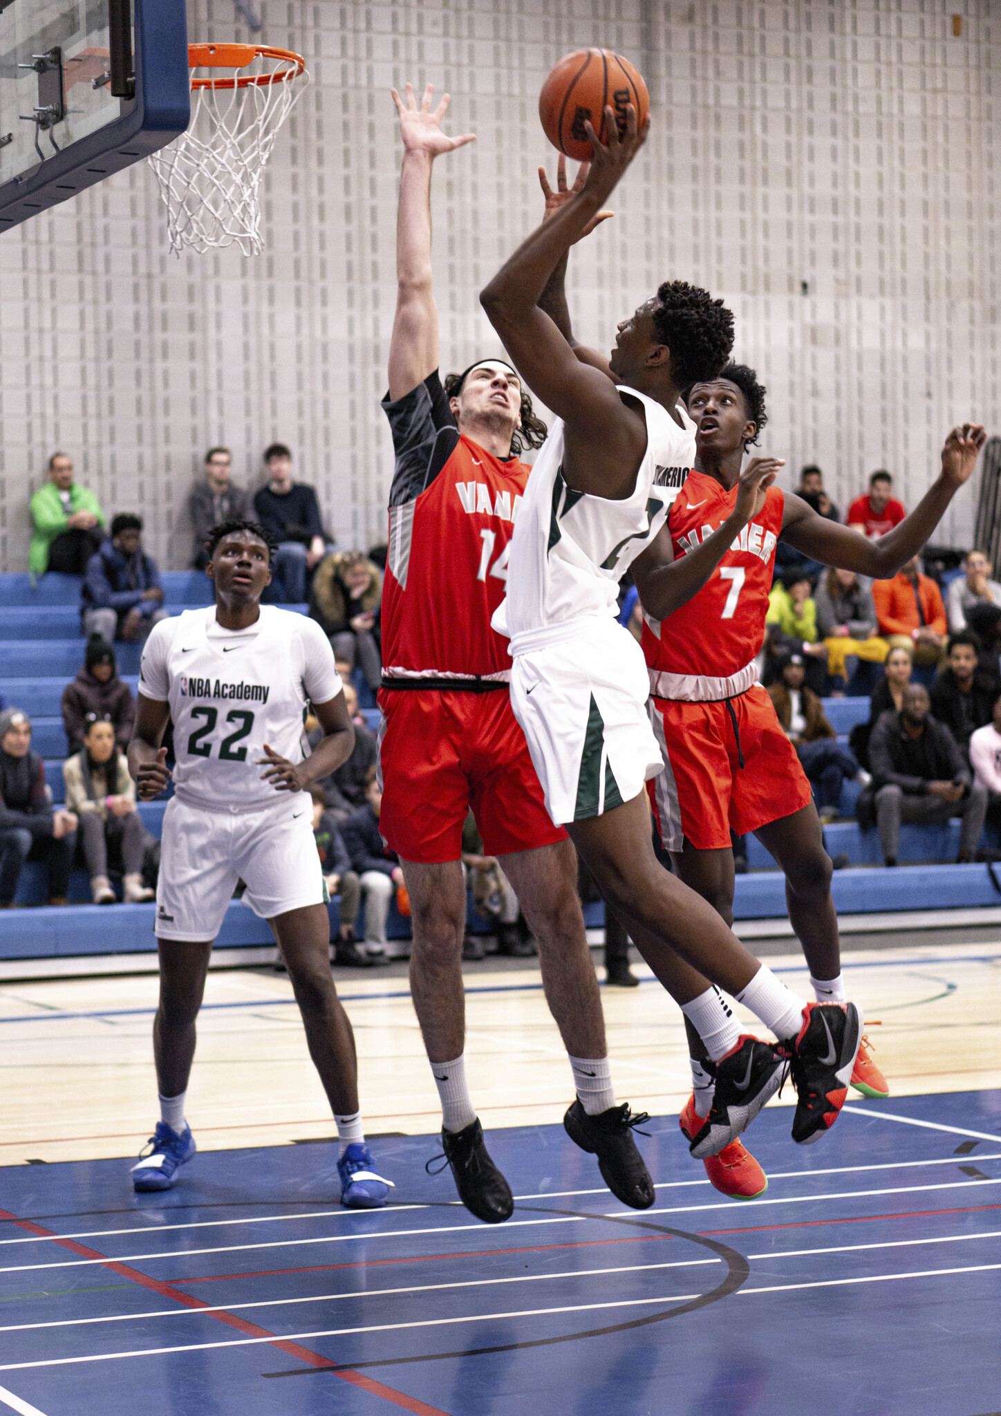
[[[614,1104],[605,1024],[588,952],[576,855],[554,826],[508,700],[507,640],[490,627],[504,596],[514,518],[528,479],[517,453],[545,425],[504,360],[437,374],[437,310],[430,268],[435,157],[473,140],[446,137],[447,95],[432,112],[406,85],[394,89],[404,137],[396,228],[398,300],[384,408],[396,452],[382,595],[379,830],[402,861],[411,895],[411,991],[442,1097],[442,1144],[466,1206],[507,1219],[511,1191],[483,1143],[464,1078],[460,862],[469,807],[483,848],[500,857],[538,942],[547,1001],[578,1092],[571,1137],[597,1155],[624,1204],[646,1209],[654,1189],[636,1148],[627,1104]]]

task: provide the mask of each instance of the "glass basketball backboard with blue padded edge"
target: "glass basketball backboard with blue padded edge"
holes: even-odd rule
[[[184,0],[0,0],[0,231],[188,123]]]

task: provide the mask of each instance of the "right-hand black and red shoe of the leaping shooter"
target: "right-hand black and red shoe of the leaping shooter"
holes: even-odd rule
[[[837,1121],[861,1041],[862,1015],[854,1003],[808,1003],[799,1034],[782,1044],[797,1096],[797,1146],[818,1141]]]

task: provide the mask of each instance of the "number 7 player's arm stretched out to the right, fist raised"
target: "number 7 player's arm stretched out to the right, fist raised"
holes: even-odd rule
[[[949,503],[970,480],[985,438],[978,423],[953,428],[942,449],[942,472],[910,515],[878,541],[869,541],[850,527],[828,521],[801,497],[789,491],[782,539],[803,551],[811,561],[835,565],[841,571],[855,571],[858,575],[871,575],[874,581],[888,581],[917,555],[946,514]]]

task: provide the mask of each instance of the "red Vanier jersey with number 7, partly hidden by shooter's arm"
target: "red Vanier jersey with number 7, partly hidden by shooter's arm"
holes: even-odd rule
[[[718,531],[736,504],[715,477],[691,472],[674,498],[667,525],[681,556]],[[715,702],[757,681],[755,660],[765,643],[765,615],[782,531],[784,497],[765,493],[765,507],[743,528],[702,589],[665,620],[644,616],[643,653],[656,698]]]

